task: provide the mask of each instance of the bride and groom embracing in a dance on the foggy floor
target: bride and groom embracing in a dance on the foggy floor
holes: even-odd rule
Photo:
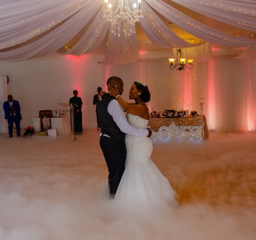
[[[150,91],[145,83],[134,82],[126,102],[123,81],[112,76],[107,80],[108,93],[97,104],[96,112],[101,124],[100,145],[108,166],[110,197],[121,209],[159,209],[176,205],[176,193],[168,179],[151,160],[152,131],[146,102]],[[125,112],[126,115],[125,115]]]

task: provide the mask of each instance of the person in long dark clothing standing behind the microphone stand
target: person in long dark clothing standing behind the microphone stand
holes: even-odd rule
[[[82,132],[82,98],[78,97],[78,91],[73,91],[74,97],[70,98],[69,105],[73,107],[74,110],[74,132]]]

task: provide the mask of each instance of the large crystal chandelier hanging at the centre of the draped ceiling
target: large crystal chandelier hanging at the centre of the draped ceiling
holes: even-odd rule
[[[108,3],[108,0],[104,1],[106,9],[103,17],[107,22],[111,23],[111,33],[120,37],[120,28],[125,37],[136,33],[135,23],[139,22],[140,18],[143,18],[143,11],[140,10],[141,0],[133,3],[133,9],[131,9],[127,0],[118,0],[116,10],[112,10],[112,4]]]

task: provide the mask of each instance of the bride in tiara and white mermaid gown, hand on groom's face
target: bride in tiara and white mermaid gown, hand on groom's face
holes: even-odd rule
[[[134,82],[131,86],[129,99],[135,103],[126,102],[118,89],[110,85],[108,92],[127,112],[127,121],[131,125],[148,128],[150,115],[146,102],[150,101],[150,91],[145,83]],[[125,144],[125,172],[114,198],[115,207],[128,215],[141,215],[142,211],[148,213],[150,210],[155,214],[177,205],[176,192],[151,160],[153,144],[150,138],[126,134]]]

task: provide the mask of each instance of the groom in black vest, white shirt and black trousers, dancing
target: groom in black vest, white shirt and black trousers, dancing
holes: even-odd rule
[[[106,84],[112,87],[116,86],[120,91],[120,95],[123,93],[123,81],[121,78],[112,76],[108,78]],[[120,104],[118,104],[116,98],[108,93],[105,93],[102,100],[97,103],[96,113],[101,125],[100,145],[108,166],[110,197],[114,198],[125,170],[125,134],[148,136],[150,138],[152,131],[129,125]]]

